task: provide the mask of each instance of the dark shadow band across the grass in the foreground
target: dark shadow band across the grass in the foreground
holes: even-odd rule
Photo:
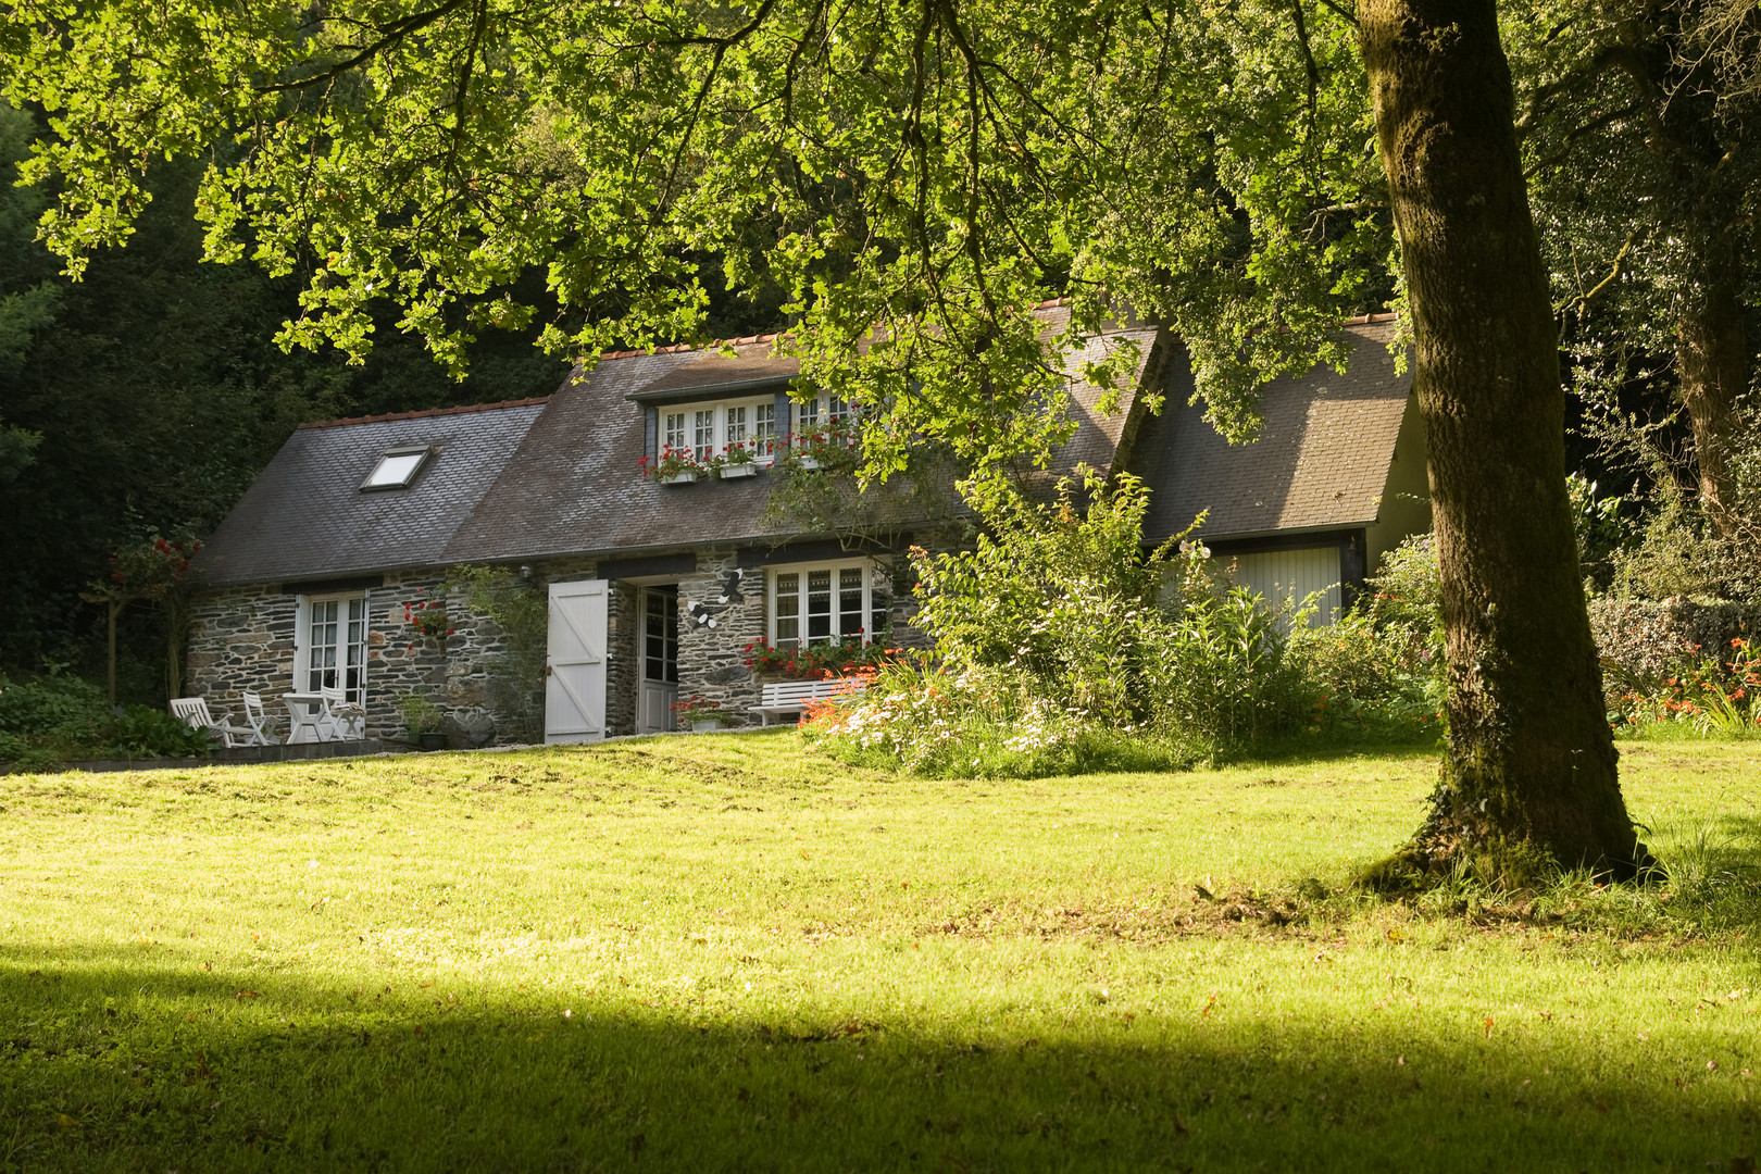
[[[564,1016],[544,994],[356,994],[129,950],[26,965],[0,949],[0,1169],[1705,1170],[1756,1141],[1738,1012],[1657,1060],[1551,1019],[1242,1007],[1034,1038],[604,994]]]

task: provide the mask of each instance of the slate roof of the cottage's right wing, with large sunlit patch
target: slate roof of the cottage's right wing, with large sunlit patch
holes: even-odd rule
[[[1393,329],[1393,315],[1347,326],[1344,375],[1317,366],[1268,384],[1264,426],[1247,445],[1227,444],[1185,401],[1190,375],[1183,387],[1173,380],[1162,414],[1132,444],[1132,472],[1152,489],[1145,539],[1178,533],[1205,509],[1201,533],[1212,539],[1374,523],[1412,389],[1388,352]]]

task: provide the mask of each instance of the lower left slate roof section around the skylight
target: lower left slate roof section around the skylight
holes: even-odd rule
[[[444,563],[453,532],[518,449],[546,400],[329,421],[299,428],[203,549],[215,586]],[[361,493],[400,445],[438,445],[409,489]]]

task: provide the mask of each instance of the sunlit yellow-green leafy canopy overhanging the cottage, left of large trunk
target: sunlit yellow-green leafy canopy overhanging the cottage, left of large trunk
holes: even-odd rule
[[[928,442],[1044,452],[1065,426],[1046,297],[1071,299],[1071,338],[1169,322],[1245,435],[1256,384],[1340,357],[1338,319],[1389,292],[1356,33],[1330,4],[5,11],[74,273],[167,153],[206,160],[208,253],[299,275],[285,338],[352,356],[389,297],[458,364],[475,329],[528,320],[532,266],[555,347],[697,338],[694,259],[717,255],[785,292],[807,373],[879,424],[870,473]]]

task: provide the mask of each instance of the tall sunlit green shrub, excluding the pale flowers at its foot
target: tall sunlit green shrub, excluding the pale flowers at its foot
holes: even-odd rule
[[[972,489],[970,551],[916,553],[917,623],[954,672],[1013,679],[1069,720],[1240,746],[1294,723],[1305,686],[1278,616],[1203,544],[1143,547],[1148,491],[1083,470],[1050,503]]]

